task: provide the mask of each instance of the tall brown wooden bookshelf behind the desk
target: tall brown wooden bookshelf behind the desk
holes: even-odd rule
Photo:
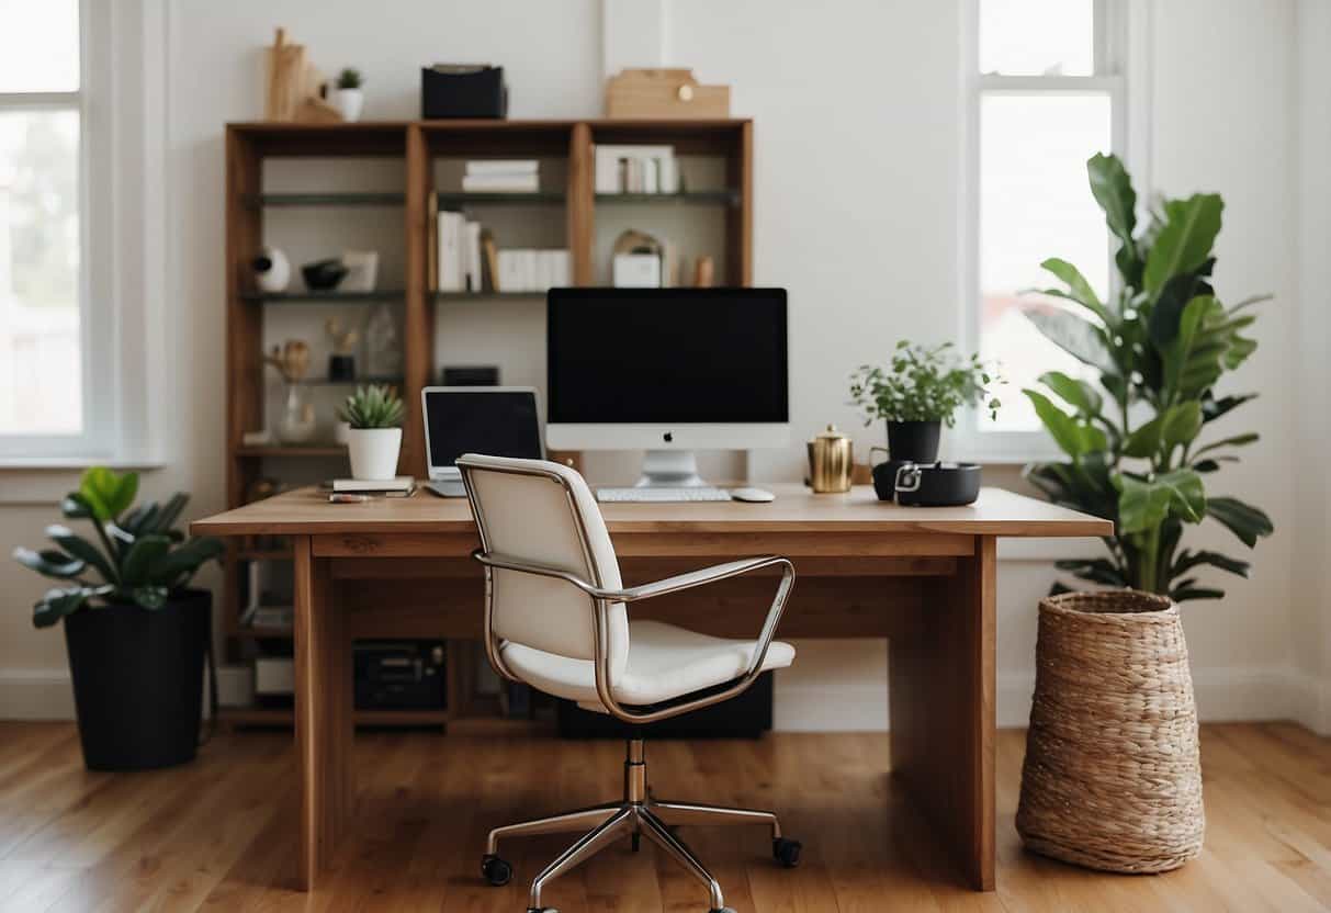
[[[594,149],[606,144],[672,145],[677,156],[705,156],[721,160],[723,186],[693,188],[676,194],[598,194],[594,182]],[[371,158],[401,165],[402,186],[374,188],[284,188],[265,184],[265,162],[274,160]],[[538,193],[465,193],[458,188],[435,186],[439,160],[540,158],[559,160],[564,168],[563,186],[543,186]],[[246,446],[244,435],[265,427],[262,363],[264,319],[268,307],[295,307],[318,314],[321,307],[370,307],[390,302],[401,307],[403,371],[395,382],[409,405],[419,402],[421,387],[438,377],[434,362],[435,325],[447,329],[447,314],[470,302],[495,306],[523,306],[543,299],[543,293],[442,293],[429,287],[431,202],[441,208],[466,206],[479,213],[522,209],[523,218],[562,220],[564,245],[570,250],[575,285],[594,285],[596,262],[596,214],[640,208],[643,228],[651,228],[651,214],[675,206],[697,209],[696,218],[724,221],[723,272],[719,282],[749,285],[752,281],[753,234],[753,125],[748,120],[712,121],[614,121],[614,120],[455,120],[383,121],[359,124],[265,124],[245,122],[226,126],[226,498],[229,507],[244,503],[249,487],[266,475],[281,478],[284,471],[327,474],[329,464],[345,459],[346,449],[315,441],[299,446]],[[434,200],[431,201],[431,197]],[[309,208],[321,220],[389,218],[401,212],[401,253],[403,275],[397,287],[369,293],[301,291],[298,264],[293,264],[293,287],[282,294],[266,294],[254,287],[250,260],[264,238],[265,213]],[[623,212],[628,212],[624,209]],[[632,209],[638,218],[639,209]],[[695,218],[695,217],[691,217]],[[268,238],[278,246],[290,238]],[[391,245],[385,238],[383,245]],[[307,310],[306,310],[307,309]],[[294,311],[286,311],[294,313]],[[333,311],[339,313],[339,311]],[[362,379],[363,382],[365,379]],[[311,385],[330,383],[321,378]],[[309,463],[318,470],[311,470]],[[418,409],[407,410],[399,472],[425,475],[425,441]],[[228,632],[228,652],[241,656],[249,644],[281,640],[289,635],[277,630],[242,628],[240,588],[248,562],[286,562],[285,548],[242,547],[230,543],[225,556],[222,611]],[[478,607],[479,608],[479,607]],[[419,614],[398,614],[385,607],[369,627],[355,636],[434,638],[449,643],[449,711],[394,711],[357,713],[367,725],[449,725],[451,731],[482,733],[539,729],[527,720],[504,720],[486,700],[462,687],[457,671],[470,668],[465,641],[449,640],[434,631]],[[238,725],[290,725],[290,711],[232,708],[222,719]],[[548,728],[548,724],[544,724]]]

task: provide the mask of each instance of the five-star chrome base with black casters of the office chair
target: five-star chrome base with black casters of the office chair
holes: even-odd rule
[[[683,824],[761,824],[771,829],[772,856],[776,861],[785,866],[799,865],[800,844],[781,836],[781,824],[773,812],[667,801],[652,796],[647,787],[643,740],[630,739],[624,757],[623,801],[592,805],[591,808],[495,828],[490,832],[490,838],[486,842],[486,856],[480,862],[480,872],[495,886],[508,884],[512,877],[512,866],[499,858],[500,838],[586,830],[572,846],[560,853],[540,874],[532,878],[528,910],[540,913],[550,909],[540,905],[540,892],[547,884],[587,861],[618,838],[630,837],[634,849],[638,849],[639,837],[646,834],[648,840],[664,849],[707,886],[712,913],[724,912],[727,908],[721,886],[693,852],[675,836],[672,828]]]

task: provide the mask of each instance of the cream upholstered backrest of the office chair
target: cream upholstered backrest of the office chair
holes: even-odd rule
[[[487,554],[555,567],[619,590],[619,562],[591,488],[578,471],[543,459],[466,454],[458,459]],[[556,578],[492,568],[490,631],[534,649],[595,659],[595,600]],[[611,673],[628,659],[623,603],[608,607]]]

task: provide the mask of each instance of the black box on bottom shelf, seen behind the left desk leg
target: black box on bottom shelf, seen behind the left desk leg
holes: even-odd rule
[[[353,657],[355,709],[445,708],[442,640],[357,640]]]

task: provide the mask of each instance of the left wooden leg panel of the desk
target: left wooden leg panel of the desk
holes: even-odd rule
[[[295,536],[295,749],[301,789],[301,886],[313,890],[351,811],[351,643],[342,607],[314,558]]]

